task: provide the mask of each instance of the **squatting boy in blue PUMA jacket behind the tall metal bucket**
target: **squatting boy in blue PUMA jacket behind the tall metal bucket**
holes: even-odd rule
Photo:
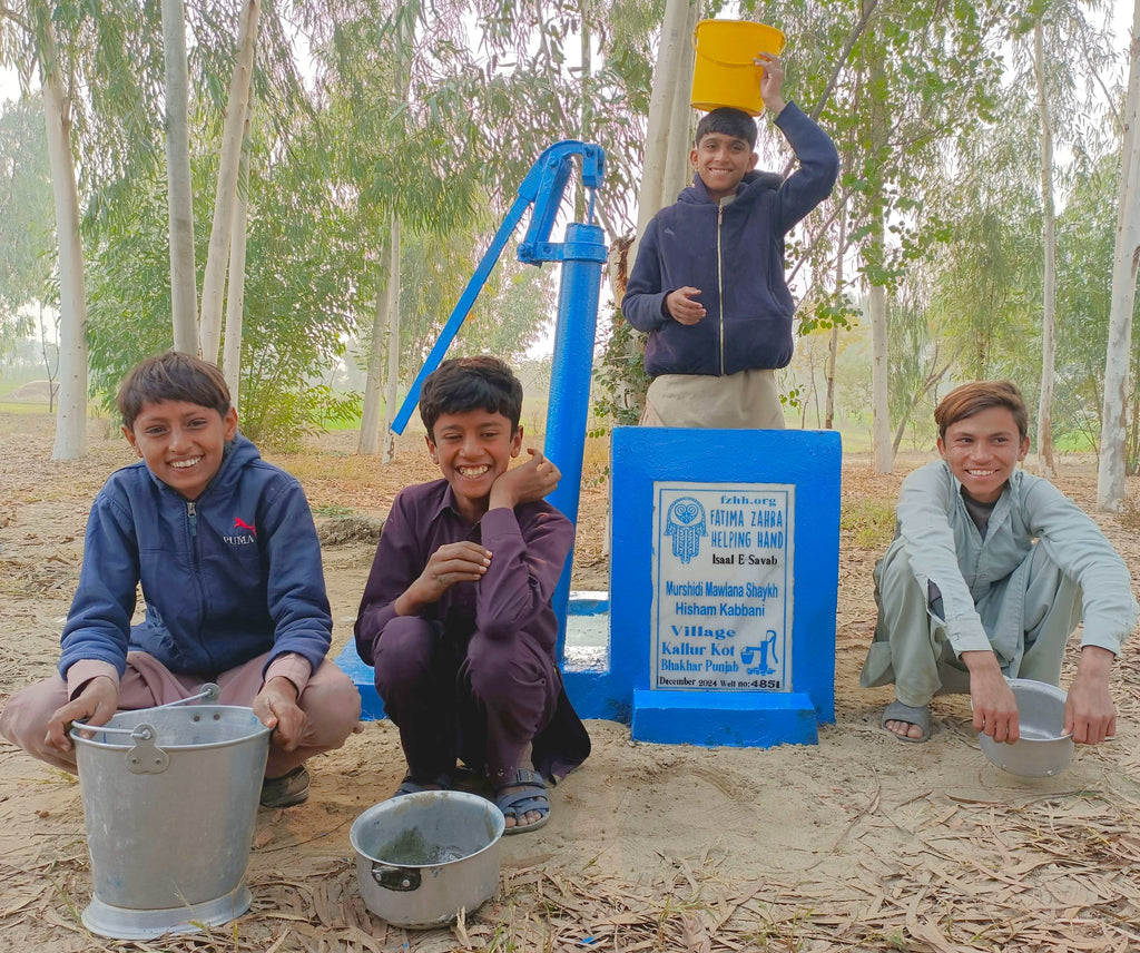
[[[214,365],[148,358],[117,404],[141,462],[91,506],[58,674],[11,697],[0,732],[74,773],[72,720],[103,725],[215,682],[219,703],[252,706],[275,728],[261,805],[300,804],[306,759],[343,744],[360,715],[325,659],[332,619],[304,492],[237,433]],[[146,618],[131,626],[139,583]]]

